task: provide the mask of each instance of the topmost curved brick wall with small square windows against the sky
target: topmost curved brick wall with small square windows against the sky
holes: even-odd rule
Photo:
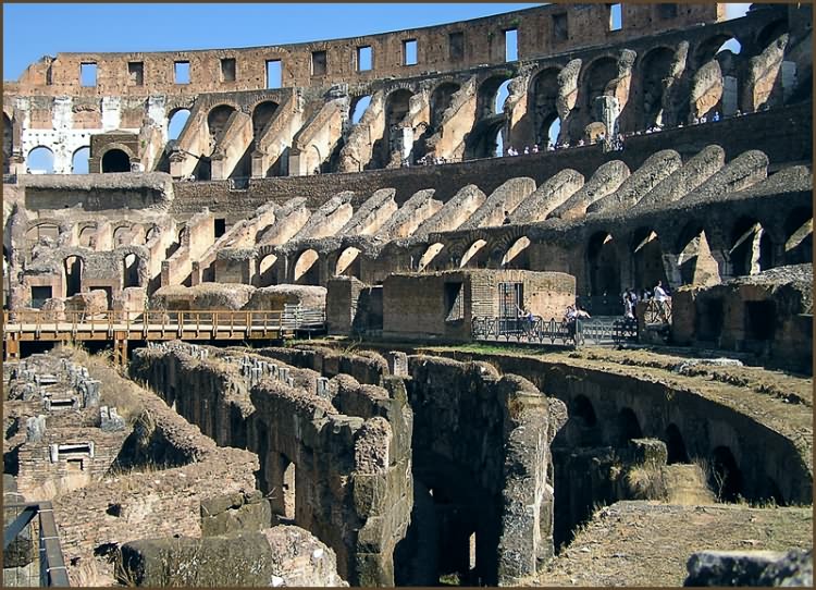
[[[449,71],[480,64],[505,62],[504,30],[519,32],[520,59],[574,50],[613,40],[656,33],[722,19],[721,4],[689,4],[673,16],[657,14],[656,4],[623,4],[622,28],[611,30],[605,5],[541,7],[508,12],[496,16],[461,23],[369,35],[351,39],[313,41],[297,45],[250,49],[193,50],[175,52],[133,53],[58,53],[28,66],[16,84],[7,91],[40,95],[147,96],[181,94],[190,96],[207,91],[258,90],[270,87],[265,63],[281,61],[281,85],[329,86],[335,83],[358,83],[374,77],[410,76],[420,71]],[[554,15],[568,22],[568,37],[554,37]],[[450,35],[462,37],[450,39]],[[406,64],[403,42],[417,41],[417,64]],[[372,67],[361,70],[357,49],[371,47]],[[460,48],[457,50],[457,47]],[[324,67],[313,65],[314,52],[322,51]],[[234,60],[232,75],[224,73],[223,60]],[[189,83],[177,84],[174,63],[189,64]],[[95,63],[97,81],[92,87],[79,84],[79,65]],[[137,74],[137,71],[139,72]]]

